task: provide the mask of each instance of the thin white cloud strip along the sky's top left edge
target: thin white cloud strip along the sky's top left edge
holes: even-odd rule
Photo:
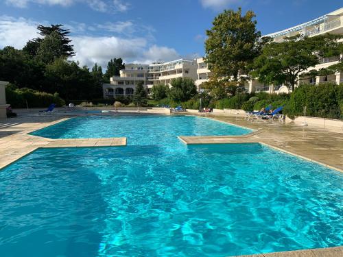
[[[29,3],[40,5],[61,5],[67,7],[75,3],[86,3],[90,8],[98,12],[126,12],[130,4],[121,0],[5,0],[8,5],[18,8],[27,8]]]

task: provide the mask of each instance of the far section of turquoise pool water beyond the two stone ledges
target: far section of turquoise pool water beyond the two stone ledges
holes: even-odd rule
[[[93,116],[57,123],[32,134],[47,138],[110,138],[124,136],[129,145],[176,142],[176,136],[243,135],[244,127],[194,116]]]

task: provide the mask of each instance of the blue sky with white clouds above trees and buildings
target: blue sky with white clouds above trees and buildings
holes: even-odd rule
[[[202,56],[206,29],[225,8],[253,10],[262,34],[342,8],[338,0],[1,0],[0,48],[21,49],[36,24],[71,29],[74,60],[106,66],[110,58],[147,63]]]

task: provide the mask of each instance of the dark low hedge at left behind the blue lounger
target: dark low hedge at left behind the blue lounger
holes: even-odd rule
[[[58,107],[65,105],[64,100],[57,93],[52,95],[29,88],[13,88],[12,86],[6,86],[5,93],[6,102],[12,108],[48,107],[51,103],[55,103]]]

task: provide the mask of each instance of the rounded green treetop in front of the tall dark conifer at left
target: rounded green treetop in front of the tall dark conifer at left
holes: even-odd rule
[[[45,64],[49,64],[54,62],[55,58],[61,57],[64,57],[62,39],[57,32],[52,32],[40,42],[36,58]]]

